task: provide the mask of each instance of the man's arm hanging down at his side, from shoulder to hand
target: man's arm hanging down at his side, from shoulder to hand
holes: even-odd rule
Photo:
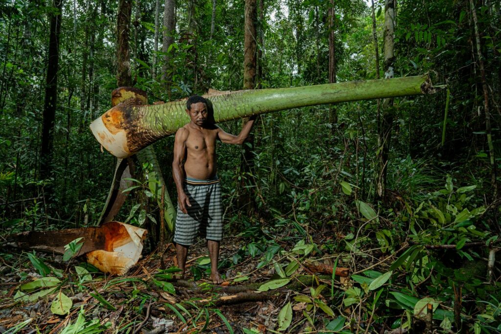
[[[182,212],[187,213],[186,205],[191,206],[188,196],[184,193],[184,158],[186,154],[186,139],[188,130],[180,128],[176,132],[174,140],[174,160],[172,161],[172,176],[177,188],[177,202]]]

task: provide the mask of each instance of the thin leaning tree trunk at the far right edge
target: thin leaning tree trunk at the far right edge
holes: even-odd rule
[[[470,0],[471,14],[473,16],[473,23],[475,26],[475,40],[476,40],[476,53],[478,57],[478,67],[480,69],[480,78],[482,81],[483,90],[483,111],[485,114],[485,133],[487,135],[487,145],[489,147],[489,157],[490,157],[490,175],[491,175],[491,185],[494,188],[494,198],[497,197],[497,180],[496,180],[496,164],[494,156],[494,145],[492,144],[492,129],[490,126],[490,111],[489,111],[489,94],[487,88],[487,80],[485,79],[485,67],[482,56],[482,49],[480,45],[480,34],[478,32],[478,20],[476,17],[476,10],[473,4],[473,0]]]

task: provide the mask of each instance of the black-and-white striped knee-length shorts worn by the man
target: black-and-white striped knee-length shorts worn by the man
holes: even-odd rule
[[[184,180],[184,192],[191,206],[186,205],[188,213],[177,207],[174,242],[192,245],[196,237],[220,241],[222,239],[221,186],[215,176],[211,180]]]

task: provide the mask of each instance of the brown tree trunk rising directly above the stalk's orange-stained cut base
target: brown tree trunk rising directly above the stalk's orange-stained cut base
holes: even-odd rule
[[[117,86],[132,87],[132,72],[130,66],[130,18],[132,12],[132,0],[118,1],[117,19]]]

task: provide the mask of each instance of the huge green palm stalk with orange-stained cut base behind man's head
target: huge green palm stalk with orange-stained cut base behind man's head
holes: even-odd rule
[[[437,87],[442,88],[442,87]],[[215,123],[321,104],[434,93],[427,75],[351,81],[306,87],[218,92],[204,95]],[[186,100],[143,106],[138,99],[111,108],[92,122],[96,139],[114,156],[126,158],[189,122]],[[210,107],[210,106],[209,106]],[[211,110],[213,109],[213,110]]]

